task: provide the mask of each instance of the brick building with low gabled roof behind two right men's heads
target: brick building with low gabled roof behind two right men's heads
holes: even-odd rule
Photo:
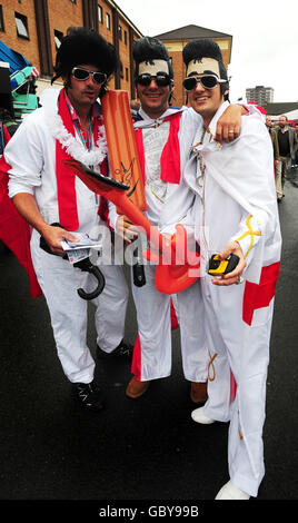
[[[211,38],[220,47],[226,68],[230,63],[232,37],[224,32],[212,31],[198,26],[185,26],[173,31],[157,34],[167,47],[175,75],[175,100],[173,105],[178,107],[187,103],[187,95],[182,88],[182,80],[186,77],[186,67],[182,59],[182,49],[190,41],[197,38]]]

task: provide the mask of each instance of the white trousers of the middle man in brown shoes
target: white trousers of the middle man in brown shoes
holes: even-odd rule
[[[137,377],[149,381],[171,374],[170,300],[172,298],[180,327],[185,377],[191,382],[206,382],[208,352],[199,283],[196,282],[186,290],[170,296],[159,293],[155,286],[156,266],[145,265],[145,274],[143,287],[131,284],[141,347],[140,376]]]

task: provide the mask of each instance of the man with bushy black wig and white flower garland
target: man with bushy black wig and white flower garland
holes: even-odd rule
[[[115,48],[95,31],[71,29],[57,53],[56,77],[64,88],[44,93],[44,106],[29,115],[6,148],[9,195],[32,226],[31,257],[51,316],[58,356],[82,405],[101,409],[93,381],[95,361],[87,346],[87,302],[78,288],[92,290],[93,276],[62,258],[62,238],[107,233],[99,199],[66,167],[74,158],[107,175],[107,144],[98,97],[115,71]],[[51,224],[62,227],[53,227]],[[40,248],[41,235],[51,254]],[[105,248],[105,246],[103,246]],[[100,262],[99,262],[100,263]],[[107,354],[122,347],[128,288],[122,268],[101,265],[106,286],[93,299],[98,345]]]

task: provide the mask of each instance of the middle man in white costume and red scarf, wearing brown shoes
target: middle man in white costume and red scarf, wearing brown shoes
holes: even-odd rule
[[[143,165],[146,215],[161,234],[173,235],[178,223],[186,229],[191,225],[193,234],[188,215],[195,195],[187,187],[181,172],[201,118],[192,109],[169,106],[173,83],[172,68],[168,51],[159,40],[143,37],[135,42],[132,53],[141,103],[135,129],[140,162]],[[239,106],[229,109],[234,119],[230,122],[232,128],[238,129],[241,110]],[[118,217],[112,206],[110,220],[126,239],[128,228],[132,234],[136,230],[126,218]],[[151,379],[166,377],[171,373],[172,298],[180,326],[185,377],[191,382],[191,399],[203,403],[207,397],[208,353],[199,283],[170,296],[157,290],[155,273],[155,265],[145,265],[146,285],[137,287],[132,284],[140,343],[133,349],[133,377],[128,384],[127,395],[131,398],[139,397]]]

